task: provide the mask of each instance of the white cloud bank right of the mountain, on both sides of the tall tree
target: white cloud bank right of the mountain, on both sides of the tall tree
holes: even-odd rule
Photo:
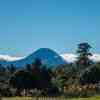
[[[61,54],[61,57],[69,63],[77,60],[77,55],[72,53]],[[100,54],[93,54],[90,59],[94,62],[100,62]]]

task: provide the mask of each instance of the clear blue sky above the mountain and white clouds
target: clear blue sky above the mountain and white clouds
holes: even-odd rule
[[[75,53],[81,42],[100,53],[100,0],[0,0],[0,54]]]

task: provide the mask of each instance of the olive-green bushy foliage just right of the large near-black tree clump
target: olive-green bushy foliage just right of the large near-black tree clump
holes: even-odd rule
[[[79,73],[73,64],[58,66],[52,77],[54,86],[58,87],[60,92],[63,92],[65,85],[78,84]]]

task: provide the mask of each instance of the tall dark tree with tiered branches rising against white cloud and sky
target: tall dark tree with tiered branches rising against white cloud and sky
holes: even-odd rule
[[[91,48],[92,47],[87,42],[78,44],[78,60],[76,61],[77,65],[82,65],[84,67],[91,65],[91,60],[89,59],[89,56],[92,56],[92,53],[90,52]]]

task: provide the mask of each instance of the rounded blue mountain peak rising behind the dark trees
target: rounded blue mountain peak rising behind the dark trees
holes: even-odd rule
[[[43,63],[50,65],[59,65],[66,63],[59,54],[49,48],[40,48],[31,55],[29,55],[28,58],[39,58]]]

